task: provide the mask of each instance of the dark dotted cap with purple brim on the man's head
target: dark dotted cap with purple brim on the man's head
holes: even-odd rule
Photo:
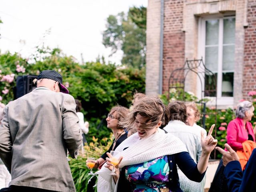
[[[54,81],[58,81],[59,86],[60,86],[60,92],[69,94],[68,89],[64,85],[62,85],[62,76],[61,76],[61,74],[59,74],[58,72],[56,72],[54,70],[41,71],[39,73],[37,79],[38,80],[40,80],[40,79],[51,79],[51,80],[54,80]]]

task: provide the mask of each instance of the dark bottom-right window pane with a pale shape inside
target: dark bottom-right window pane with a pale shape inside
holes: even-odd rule
[[[222,73],[222,97],[232,97],[234,86],[234,73]]]

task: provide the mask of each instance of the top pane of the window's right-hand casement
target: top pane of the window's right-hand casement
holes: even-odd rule
[[[223,23],[223,44],[235,43],[235,18],[224,19]]]

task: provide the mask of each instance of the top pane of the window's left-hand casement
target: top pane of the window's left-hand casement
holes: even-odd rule
[[[219,41],[219,20],[206,21],[206,45],[218,45]]]

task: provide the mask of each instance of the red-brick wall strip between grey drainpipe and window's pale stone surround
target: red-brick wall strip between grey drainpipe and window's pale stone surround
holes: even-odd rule
[[[172,70],[184,64],[183,4],[183,0],[164,1],[163,93],[168,91]]]

